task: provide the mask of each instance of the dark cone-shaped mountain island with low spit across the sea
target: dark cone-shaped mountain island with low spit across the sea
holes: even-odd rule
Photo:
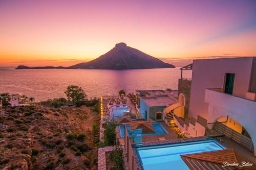
[[[16,69],[147,69],[147,68],[175,68],[158,58],[147,55],[125,43],[117,43],[109,52],[100,57],[79,63],[70,67],[28,67],[19,65]]]

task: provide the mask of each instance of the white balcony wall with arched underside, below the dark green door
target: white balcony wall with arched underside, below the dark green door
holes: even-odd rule
[[[256,102],[209,89],[205,91],[205,102],[209,104],[209,122],[229,116],[246,129],[252,139],[256,156]]]

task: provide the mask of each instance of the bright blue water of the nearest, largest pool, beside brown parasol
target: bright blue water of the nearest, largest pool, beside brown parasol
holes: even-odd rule
[[[226,149],[215,140],[187,142],[182,144],[160,145],[158,147],[137,148],[137,153],[144,170],[187,169],[180,155]]]

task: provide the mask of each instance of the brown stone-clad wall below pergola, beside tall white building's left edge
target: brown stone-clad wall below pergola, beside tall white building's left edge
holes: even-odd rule
[[[191,80],[179,79],[178,86],[178,96],[182,93],[185,96],[185,108],[184,115],[188,117],[188,110],[190,104],[190,89],[191,89]]]

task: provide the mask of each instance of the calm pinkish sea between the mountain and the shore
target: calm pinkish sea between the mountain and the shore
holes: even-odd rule
[[[185,78],[190,71],[183,71]],[[0,92],[22,93],[35,101],[65,97],[68,85],[78,85],[91,97],[145,89],[178,89],[180,67],[132,70],[12,69],[0,70]]]

